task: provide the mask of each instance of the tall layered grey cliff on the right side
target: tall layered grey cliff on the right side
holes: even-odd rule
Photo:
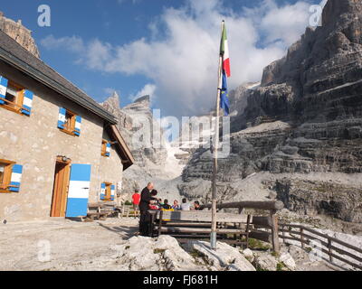
[[[254,178],[255,197],[361,223],[362,2],[329,0],[322,19],[265,68],[260,87],[233,92],[243,109],[232,117],[231,154],[219,162],[219,193],[223,200],[250,198],[243,180]],[[181,190],[195,195],[211,172],[209,152],[196,151]]]

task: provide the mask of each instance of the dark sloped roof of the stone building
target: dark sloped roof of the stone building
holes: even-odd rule
[[[0,60],[22,70],[33,79],[55,90],[63,97],[70,99],[95,115],[103,118],[112,125],[117,124],[116,118],[101,107],[93,98],[77,88],[71,81],[65,79],[50,66],[36,58],[31,52],[24,49],[18,42],[6,33],[0,31]]]

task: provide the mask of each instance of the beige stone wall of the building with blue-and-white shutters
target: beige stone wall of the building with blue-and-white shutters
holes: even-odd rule
[[[34,93],[31,117],[0,107],[0,159],[22,164],[19,193],[0,194],[0,219],[12,221],[50,216],[55,161],[58,155],[71,163],[91,164],[90,201],[99,200],[101,182],[121,181],[118,154],[102,157],[103,120],[68,99],[47,89],[23,73],[0,62],[0,74]],[[81,136],[67,135],[57,128],[59,107],[82,117]],[[107,180],[106,179],[107,176]]]

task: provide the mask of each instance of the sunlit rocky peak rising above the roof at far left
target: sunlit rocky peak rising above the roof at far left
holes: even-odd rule
[[[24,49],[30,51],[37,58],[40,58],[40,53],[33,39],[32,32],[22,24],[21,20],[14,22],[14,20],[6,18],[4,13],[0,11],[0,30],[22,45]]]

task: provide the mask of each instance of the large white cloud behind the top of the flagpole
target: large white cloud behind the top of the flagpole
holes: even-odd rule
[[[44,40],[44,46],[54,49],[71,42],[75,52],[83,46],[78,57],[89,69],[143,75],[154,82],[144,89],[155,93],[157,88],[163,115],[191,116],[214,107],[223,19],[232,65],[229,86],[234,88],[260,80],[262,69],[299,39],[308,25],[309,7],[304,1],[279,6],[264,0],[253,9],[225,11],[221,1],[188,0],[181,8],[167,8],[150,23],[149,38],[112,46],[99,40],[81,45],[73,36]]]

